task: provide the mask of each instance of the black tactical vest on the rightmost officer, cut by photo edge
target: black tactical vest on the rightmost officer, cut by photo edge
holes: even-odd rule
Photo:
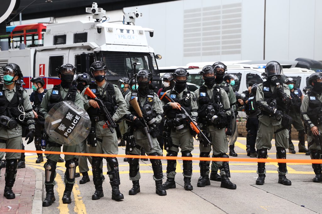
[[[312,121],[312,123],[317,126],[318,120],[321,121],[322,118],[319,119],[319,116],[322,116],[319,111],[321,110],[322,103],[317,98],[316,94],[312,91],[308,92],[308,110],[306,114]]]

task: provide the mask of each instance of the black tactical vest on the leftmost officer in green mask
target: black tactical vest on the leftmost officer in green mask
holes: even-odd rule
[[[15,87],[16,92],[14,93],[14,97],[9,102],[8,99],[5,97],[5,92],[3,91],[3,84],[0,84],[0,115],[5,115],[10,118],[14,118],[17,122],[19,122],[20,120],[18,120],[17,118],[19,117],[19,115],[22,114],[22,112],[19,111],[18,106],[24,106],[23,91],[18,85],[15,85]]]

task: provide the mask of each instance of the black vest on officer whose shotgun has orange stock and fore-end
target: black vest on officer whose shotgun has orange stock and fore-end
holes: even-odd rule
[[[181,99],[179,99],[179,93],[177,93],[176,91],[171,90],[168,94],[176,103],[179,103],[181,105],[182,108],[185,109],[185,111],[187,111],[187,113],[189,115],[191,115],[191,101],[190,98],[191,97],[191,92],[189,90],[187,91],[183,91],[183,96]],[[169,109],[168,111],[166,111],[166,117],[171,120],[175,118],[176,114],[180,114],[180,111],[177,109]]]

